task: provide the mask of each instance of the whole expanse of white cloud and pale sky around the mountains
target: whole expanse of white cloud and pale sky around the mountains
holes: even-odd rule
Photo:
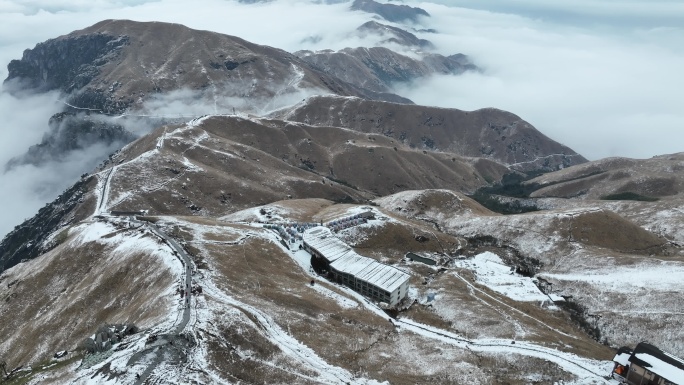
[[[276,0],[0,0],[0,78],[26,48],[100,20],[168,21],[295,51],[369,45],[350,35],[371,15],[349,3]],[[483,69],[399,86],[419,104],[496,107],[527,120],[589,159],[684,151],[684,2],[627,0],[404,1],[432,16],[408,28],[442,54],[465,53]],[[407,27],[404,27],[407,28]],[[0,94],[0,170],[37,143],[58,95]],[[65,164],[0,171],[0,236],[90,170]],[[80,160],[79,160],[80,159]],[[84,170],[86,168],[86,170]],[[59,171],[59,172],[57,172]],[[61,174],[60,174],[61,173]],[[6,188],[13,186],[13,188]]]

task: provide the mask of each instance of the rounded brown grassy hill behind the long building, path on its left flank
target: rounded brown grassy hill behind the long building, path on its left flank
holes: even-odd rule
[[[174,127],[114,158],[113,208],[221,216],[288,197],[366,201],[405,189],[473,191],[506,170],[482,175],[470,159],[416,151],[382,135],[277,120],[215,116],[178,134],[164,130]],[[145,151],[153,155],[136,160]]]

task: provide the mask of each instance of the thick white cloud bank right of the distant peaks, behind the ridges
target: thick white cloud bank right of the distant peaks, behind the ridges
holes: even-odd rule
[[[602,25],[421,6],[441,32],[426,37],[485,71],[398,87],[415,102],[508,110],[590,159],[684,151],[684,30],[622,25],[606,33]]]

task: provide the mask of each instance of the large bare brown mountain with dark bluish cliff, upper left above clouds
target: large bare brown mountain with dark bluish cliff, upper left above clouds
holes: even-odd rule
[[[113,113],[182,90],[212,99],[221,112],[303,89],[408,102],[340,81],[280,49],[162,22],[104,20],[26,50],[8,69],[6,82],[60,89],[78,107]]]

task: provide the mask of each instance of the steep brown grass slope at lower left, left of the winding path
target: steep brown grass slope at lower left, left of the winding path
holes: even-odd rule
[[[0,275],[0,357],[8,369],[72,351],[104,323],[152,327],[172,299],[175,277],[158,257],[74,241]],[[137,236],[131,233],[131,236]]]

